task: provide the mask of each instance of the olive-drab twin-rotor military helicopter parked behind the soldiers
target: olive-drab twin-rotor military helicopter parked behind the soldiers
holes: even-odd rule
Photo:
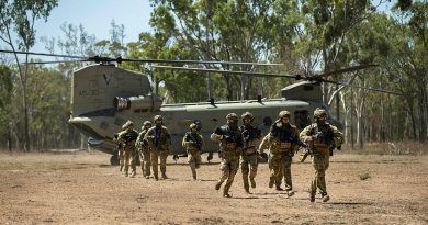
[[[0,50],[8,52],[8,50]],[[20,53],[20,52],[18,52]],[[27,53],[22,53],[27,54]],[[33,55],[42,55],[31,53]],[[54,54],[43,54],[58,56]],[[64,57],[64,56],[61,56]],[[74,57],[76,58],[76,57]],[[217,150],[217,145],[211,142],[210,135],[216,126],[225,123],[225,116],[234,112],[238,115],[251,112],[255,116],[254,124],[263,133],[277,119],[278,113],[288,110],[292,114],[292,123],[297,128],[303,128],[311,123],[311,113],[316,108],[326,106],[322,103],[322,82],[350,86],[325,79],[329,75],[353,71],[374,65],[356,66],[318,76],[259,74],[246,71],[224,71],[199,68],[154,66],[162,69],[184,69],[211,72],[227,72],[237,75],[254,75],[261,77],[281,77],[301,79],[303,81],[288,86],[281,90],[281,99],[261,99],[227,102],[198,102],[164,104],[164,99],[156,95],[146,75],[125,70],[110,63],[116,61],[143,61],[143,63],[206,63],[206,64],[251,64],[251,63],[225,63],[225,61],[199,61],[199,60],[162,60],[162,59],[123,59],[105,57],[77,57],[78,61],[95,61],[97,65],[85,66],[74,71],[71,77],[71,111],[68,122],[89,137],[88,145],[91,148],[111,154],[111,164],[119,164],[117,151],[113,135],[121,131],[121,126],[131,120],[134,127],[142,127],[144,121],[153,121],[157,114],[162,115],[164,123],[168,127],[172,138],[170,154],[184,155],[181,139],[189,130],[189,125],[198,122],[202,125],[201,134],[205,140],[204,151]],[[52,61],[47,61],[52,63]],[[263,64],[260,64],[263,65]],[[394,93],[387,90],[365,88],[373,91]],[[328,111],[327,111],[328,112]],[[340,125],[331,116],[331,123]]]

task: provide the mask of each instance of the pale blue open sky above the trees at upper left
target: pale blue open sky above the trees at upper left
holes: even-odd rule
[[[97,40],[108,40],[112,20],[125,27],[125,43],[135,42],[142,32],[149,32],[151,8],[148,0],[59,0],[58,5],[50,12],[47,22],[40,20],[35,24],[36,45],[31,52],[45,53],[42,36],[64,37],[60,25],[71,23],[82,24],[88,34]]]

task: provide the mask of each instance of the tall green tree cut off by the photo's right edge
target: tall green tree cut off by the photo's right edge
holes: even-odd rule
[[[393,70],[387,72],[392,79],[401,81],[403,88],[415,87],[405,93],[407,98],[415,98],[416,110],[412,115],[416,117],[417,127],[414,130],[417,130],[417,138],[425,142],[428,138],[428,2],[398,1],[394,19],[402,38],[394,37],[396,52],[388,61]]]

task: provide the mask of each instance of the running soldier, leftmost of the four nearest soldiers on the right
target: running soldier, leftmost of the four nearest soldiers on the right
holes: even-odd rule
[[[219,190],[222,183],[227,179],[223,189],[223,196],[230,198],[229,189],[234,182],[236,172],[239,169],[239,156],[243,149],[243,134],[238,128],[238,115],[229,113],[226,116],[227,124],[216,127],[211,134],[211,139],[219,143],[219,150],[222,151],[222,164],[219,177],[215,184],[215,190]]]

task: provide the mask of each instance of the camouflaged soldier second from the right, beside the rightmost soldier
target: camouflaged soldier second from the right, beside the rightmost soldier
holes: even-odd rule
[[[275,184],[277,191],[282,191],[282,177],[285,180],[285,191],[289,196],[294,195],[293,183],[291,179],[291,162],[294,153],[299,149],[299,131],[290,124],[290,112],[281,111],[279,119],[272,124],[269,134],[260,144],[262,149],[269,148],[269,168],[270,179],[269,188]]]

